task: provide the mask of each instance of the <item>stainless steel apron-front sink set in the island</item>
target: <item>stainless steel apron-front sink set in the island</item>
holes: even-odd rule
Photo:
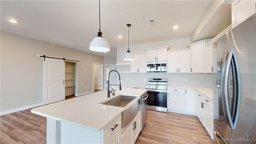
[[[110,105],[110,106],[119,106],[119,107],[124,108],[125,106],[127,106],[127,104],[132,102],[132,100],[134,100],[135,98],[136,97],[134,97],[134,96],[120,95],[120,96],[117,96],[116,98],[108,100],[102,104],[106,104],[106,105]],[[140,99],[138,99],[136,102],[134,102],[134,104],[132,104],[132,106],[130,106],[129,108],[127,108],[126,110],[124,110],[122,112],[121,127],[125,128],[133,120],[133,118],[136,116],[136,114],[138,113],[139,110],[140,110]]]

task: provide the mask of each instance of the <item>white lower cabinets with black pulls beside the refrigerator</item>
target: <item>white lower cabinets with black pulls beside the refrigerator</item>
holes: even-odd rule
[[[212,100],[200,92],[198,94],[198,119],[208,132],[211,138],[213,138],[213,110]]]

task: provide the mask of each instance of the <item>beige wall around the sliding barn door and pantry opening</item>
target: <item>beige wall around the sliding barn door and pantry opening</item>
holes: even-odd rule
[[[78,96],[92,92],[93,62],[103,64],[104,57],[52,45],[1,31],[0,112],[42,102],[42,58],[38,54],[79,60]]]

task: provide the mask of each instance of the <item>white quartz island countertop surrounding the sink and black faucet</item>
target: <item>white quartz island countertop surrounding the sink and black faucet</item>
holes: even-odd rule
[[[146,92],[146,89],[114,89],[116,89],[116,94],[112,96],[110,93],[110,98],[107,98],[107,90],[102,90],[40,106],[32,109],[31,112],[61,122],[68,122],[89,130],[100,131]],[[136,96],[138,98],[135,98],[124,108],[101,104],[119,95]]]

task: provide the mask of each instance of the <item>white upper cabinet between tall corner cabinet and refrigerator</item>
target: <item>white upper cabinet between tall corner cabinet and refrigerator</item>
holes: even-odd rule
[[[206,47],[206,73],[217,73],[217,46]]]

